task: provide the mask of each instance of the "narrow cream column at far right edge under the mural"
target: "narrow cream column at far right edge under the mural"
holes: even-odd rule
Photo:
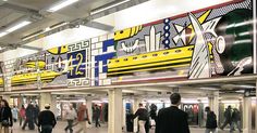
[[[252,98],[244,97],[243,104],[243,133],[252,133]]]

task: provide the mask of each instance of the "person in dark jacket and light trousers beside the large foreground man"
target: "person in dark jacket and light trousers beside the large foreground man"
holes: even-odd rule
[[[135,115],[133,116],[133,119],[138,117],[138,125],[139,125],[139,132],[138,133],[146,133],[146,122],[149,120],[148,111],[140,103],[139,108],[136,110]]]

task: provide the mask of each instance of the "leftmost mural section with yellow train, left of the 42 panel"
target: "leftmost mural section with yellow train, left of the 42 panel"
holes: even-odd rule
[[[5,75],[10,77],[12,90],[66,84],[66,45],[63,45],[7,61],[4,69]],[[0,84],[2,84],[1,81]]]

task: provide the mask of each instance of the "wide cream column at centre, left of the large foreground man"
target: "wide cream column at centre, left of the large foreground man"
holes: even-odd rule
[[[108,96],[108,133],[122,133],[122,90],[111,89]]]

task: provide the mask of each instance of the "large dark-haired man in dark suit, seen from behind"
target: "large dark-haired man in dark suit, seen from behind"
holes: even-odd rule
[[[187,114],[179,109],[181,95],[173,93],[170,99],[171,107],[159,110],[156,133],[189,133]]]

